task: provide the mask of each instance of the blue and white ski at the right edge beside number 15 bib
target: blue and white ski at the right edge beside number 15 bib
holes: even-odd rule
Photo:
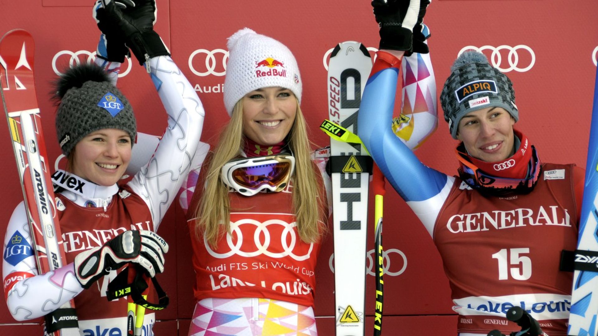
[[[579,236],[568,335],[597,336],[598,331],[598,68],[594,83],[594,107],[590,126],[588,159],[585,164],[584,197],[581,203]]]

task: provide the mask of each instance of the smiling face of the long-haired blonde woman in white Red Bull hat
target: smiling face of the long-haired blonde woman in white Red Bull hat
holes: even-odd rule
[[[297,99],[288,88],[258,88],[245,94],[242,103],[243,134],[260,145],[285,139],[297,114]]]

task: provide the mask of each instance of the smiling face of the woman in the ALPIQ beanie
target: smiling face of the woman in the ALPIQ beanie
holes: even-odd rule
[[[504,108],[489,107],[469,112],[459,121],[457,139],[472,157],[496,162],[510,157],[515,149],[515,120]]]

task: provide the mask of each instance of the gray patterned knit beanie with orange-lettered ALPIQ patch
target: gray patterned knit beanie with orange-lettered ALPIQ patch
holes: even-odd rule
[[[454,61],[440,93],[440,103],[453,139],[457,139],[461,118],[478,109],[498,106],[519,120],[513,83],[477,51],[465,51]]]

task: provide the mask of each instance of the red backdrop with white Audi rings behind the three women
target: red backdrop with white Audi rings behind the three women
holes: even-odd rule
[[[328,141],[318,125],[327,117],[324,57],[337,42],[378,44],[377,25],[370,1],[193,1],[158,0],[155,30],[172,51],[172,58],[196,87],[206,109],[202,140],[213,142],[228,120],[222,103],[226,38],[249,27],[279,39],[294,52],[304,79],[302,109],[319,145]],[[598,52],[598,2],[582,0],[435,0],[426,14],[438,92],[463,47],[482,48],[495,66],[514,82],[523,130],[544,161],[577,163],[585,167],[587,139]],[[98,31],[91,19],[91,1],[0,1],[0,33],[29,30],[36,40],[35,74],[38,100],[44,115],[47,143],[56,143],[54,107],[48,100],[50,81],[69,62],[86,60],[94,51]],[[485,47],[484,47],[485,46]],[[124,65],[125,67],[128,64]],[[126,68],[125,68],[126,69]],[[161,135],[166,126],[163,108],[151,81],[132,61],[119,86],[129,97],[141,132]],[[439,104],[440,106],[440,104]],[[440,107],[439,107],[440,108]],[[6,121],[0,118],[0,236],[20,201]],[[428,166],[450,175],[456,172],[454,140],[447,124],[417,151]],[[50,145],[52,159],[58,146]],[[454,335],[456,315],[438,252],[423,225],[394,192],[385,206],[386,330],[410,335]],[[373,230],[372,230],[373,232]],[[158,313],[155,334],[187,335],[194,300],[190,243],[181,209],[172,207],[160,234],[173,247],[161,282],[171,297],[169,308]],[[370,245],[373,245],[370,242]],[[370,247],[370,249],[373,247]],[[316,314],[322,335],[334,332],[334,275],[329,267],[332,240],[328,237],[318,263]],[[368,263],[371,269],[371,264]],[[475,265],[471,265],[475,267]],[[374,308],[374,277],[368,276],[368,315]],[[16,323],[0,304],[0,334],[41,333],[39,326]],[[368,320],[371,329],[371,319]],[[369,331],[368,331],[369,333]]]

